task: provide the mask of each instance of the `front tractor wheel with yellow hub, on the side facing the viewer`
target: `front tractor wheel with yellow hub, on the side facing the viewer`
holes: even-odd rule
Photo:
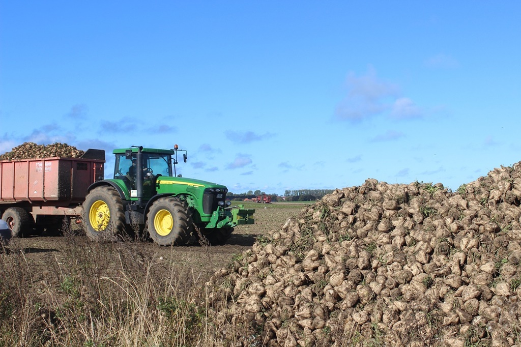
[[[162,246],[182,245],[190,239],[193,230],[192,214],[175,197],[155,201],[146,215],[148,234]]]

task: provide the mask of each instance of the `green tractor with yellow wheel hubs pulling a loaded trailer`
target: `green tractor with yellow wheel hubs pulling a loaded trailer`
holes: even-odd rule
[[[231,206],[221,184],[176,176],[178,152],[132,146],[114,150],[114,179],[93,183],[83,202],[90,239],[146,230],[159,245],[182,245],[192,234],[223,244],[233,228],[253,224],[255,209]]]

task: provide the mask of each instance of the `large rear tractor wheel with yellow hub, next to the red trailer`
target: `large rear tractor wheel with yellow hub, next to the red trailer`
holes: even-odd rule
[[[83,214],[85,234],[91,240],[113,241],[125,230],[123,203],[113,187],[91,190],[83,202]]]

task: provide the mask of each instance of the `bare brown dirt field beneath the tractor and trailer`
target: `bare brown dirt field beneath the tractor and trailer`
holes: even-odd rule
[[[196,284],[204,283],[216,270],[229,264],[234,254],[251,248],[257,236],[280,228],[286,219],[299,213],[304,206],[299,203],[249,204],[246,208],[256,209],[255,224],[236,227],[228,242],[222,246],[201,246],[193,238],[183,246],[163,247],[152,242],[132,241],[118,242],[115,248],[127,251],[131,248],[142,257],[152,258],[152,263],[163,269],[165,276],[176,274],[177,278],[173,280],[182,282],[178,283],[181,284],[178,288],[188,290]],[[27,237],[11,240],[8,253],[23,252],[28,264],[39,269],[34,272],[42,274],[39,280],[43,280],[48,273],[46,269],[60,262],[62,257],[71,257],[71,248],[74,246],[89,248],[92,243],[85,236]],[[68,262],[71,259],[61,261]]]

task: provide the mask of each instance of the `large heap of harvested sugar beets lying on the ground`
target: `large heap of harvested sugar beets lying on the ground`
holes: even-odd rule
[[[207,283],[226,339],[521,346],[521,162],[464,184],[337,189]]]

